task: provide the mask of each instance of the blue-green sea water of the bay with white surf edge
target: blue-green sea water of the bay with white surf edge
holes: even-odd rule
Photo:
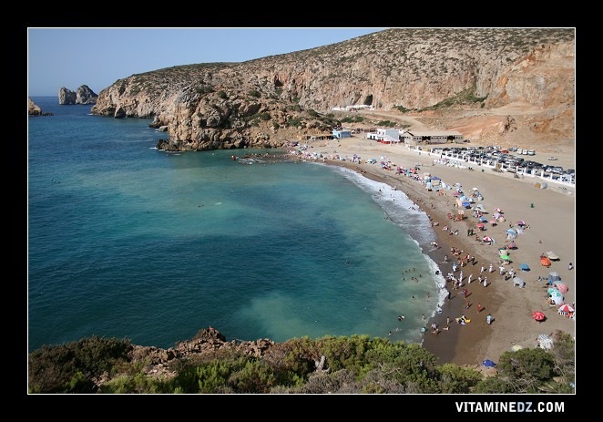
[[[338,167],[230,159],[266,149],[160,151],[147,119],[33,99],[55,115],[28,119],[30,351],[89,335],[170,347],[208,326],[229,340],[421,341],[443,279],[403,192]]]

